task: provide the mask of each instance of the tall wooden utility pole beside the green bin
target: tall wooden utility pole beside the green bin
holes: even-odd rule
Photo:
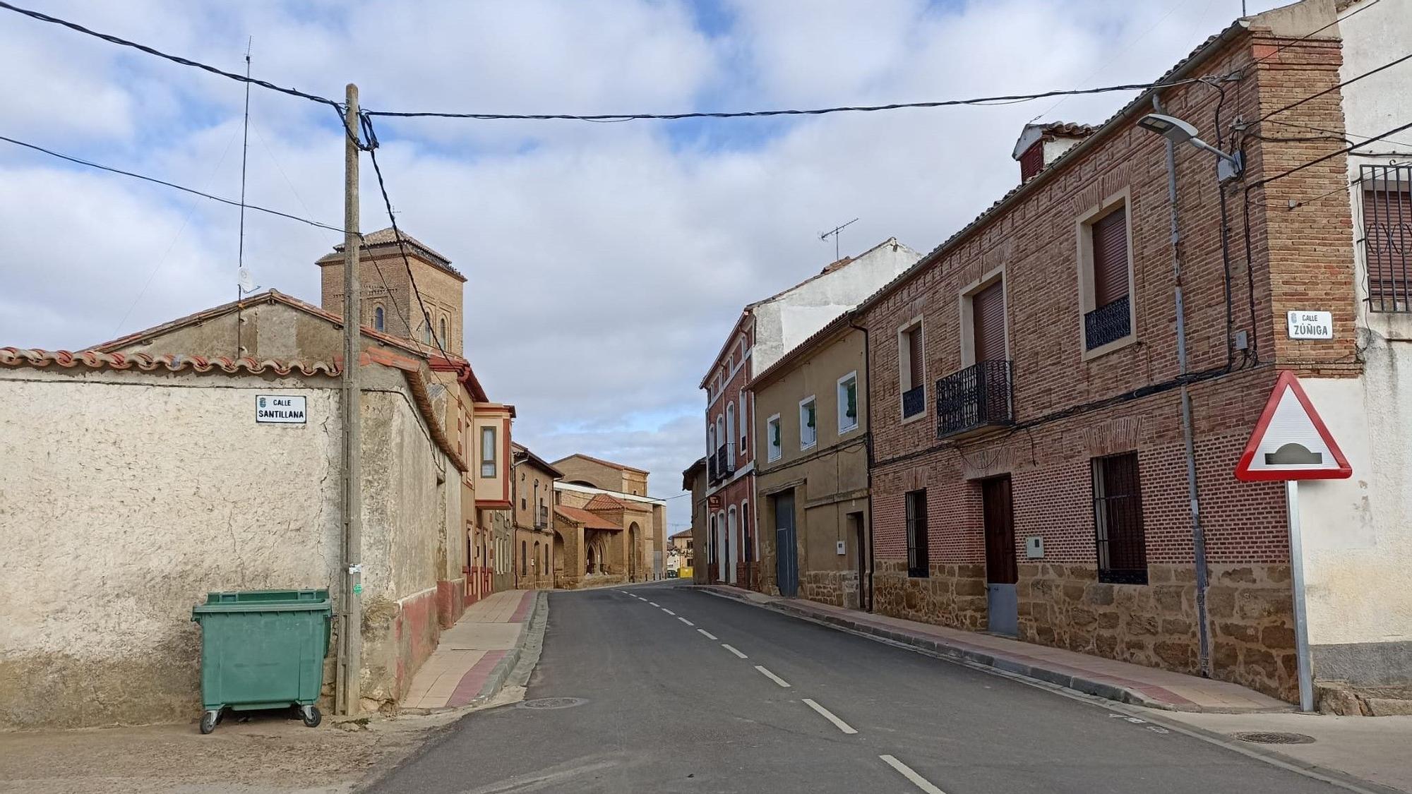
[[[359,116],[357,86],[347,86],[343,113],[343,592],[339,598],[339,658],[335,675],[335,711],[359,712],[359,682],[363,671],[363,499],[361,482],[361,410],[359,367],[363,353],[359,285],[357,158]]]

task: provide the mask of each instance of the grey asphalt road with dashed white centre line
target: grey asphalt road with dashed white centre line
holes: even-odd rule
[[[669,585],[552,593],[525,697],[583,702],[473,713],[371,791],[1343,791],[1101,705]]]

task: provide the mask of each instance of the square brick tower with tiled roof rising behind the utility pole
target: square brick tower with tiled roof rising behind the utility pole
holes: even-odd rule
[[[363,250],[359,251],[363,325],[417,342],[428,353],[438,352],[436,340],[441,340],[448,353],[460,356],[466,321],[462,300],[466,277],[431,246],[407,232],[401,235],[401,246],[391,229],[363,236]],[[407,250],[405,264],[401,249]],[[333,251],[319,257],[316,264],[321,270],[321,305],[326,312],[342,315],[343,243],[333,246]],[[417,280],[417,291],[421,292],[421,304],[426,305],[426,314],[431,315],[431,325],[424,319],[422,305],[412,294],[408,264]]]

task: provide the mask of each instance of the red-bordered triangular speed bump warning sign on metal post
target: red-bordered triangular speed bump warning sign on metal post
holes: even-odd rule
[[[1241,480],[1319,480],[1353,476],[1348,459],[1319,418],[1292,372],[1279,373],[1275,390],[1236,465]]]

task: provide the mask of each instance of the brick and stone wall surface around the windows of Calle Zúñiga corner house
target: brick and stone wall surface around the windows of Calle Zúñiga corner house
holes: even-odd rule
[[[1292,45],[1252,65],[1260,57],[1255,52],[1269,52],[1268,42],[1257,31],[1199,69],[1197,76],[1219,76],[1245,68],[1241,81],[1223,86],[1223,124],[1237,116],[1255,119],[1337,81],[1336,44]],[[1173,88],[1162,96],[1166,113],[1193,122],[1213,144],[1220,99],[1220,92],[1206,85]],[[1337,106],[1334,90],[1284,117],[1341,130]],[[1230,134],[1223,130],[1226,148]],[[1245,185],[1336,147],[1252,137],[1243,146],[1245,177],[1226,188],[1230,278],[1221,257],[1221,191],[1213,158],[1190,147],[1176,151],[1189,369],[1230,369],[1190,387],[1211,572],[1211,667],[1219,678],[1289,698],[1293,660],[1286,639],[1292,617],[1282,489],[1278,483],[1240,483],[1231,472],[1274,384],[1271,365],[1300,373],[1357,373],[1347,208],[1329,202],[1303,213],[1288,209],[1289,199],[1343,194],[1346,162],[1336,157],[1298,178],[1251,191],[1254,244],[1247,268]],[[1124,126],[1035,179],[1032,188],[864,308],[861,324],[870,332],[873,366],[867,380],[875,461],[877,609],[966,629],[986,626],[977,480],[1008,473],[1021,562],[1021,637],[1192,671],[1197,632],[1180,401],[1176,389],[1147,391],[1155,384],[1172,386],[1179,373],[1163,141]],[[1118,195],[1125,195],[1131,219],[1135,340],[1086,357],[1076,223]],[[1005,283],[1012,405],[1019,427],[938,441],[935,381],[970,363],[963,357],[969,329],[959,309],[962,294],[994,274]],[[1282,339],[1286,308],[1333,309],[1336,339]],[[904,422],[897,331],[919,315],[925,324],[928,405],[925,418]],[[1227,331],[1248,332],[1260,346],[1260,362],[1231,352]],[[1090,459],[1128,451],[1138,454],[1151,583],[1101,585]],[[931,578],[907,575],[904,493],[918,487],[928,489]],[[1031,535],[1043,538],[1042,559],[1025,558],[1024,543]]]

